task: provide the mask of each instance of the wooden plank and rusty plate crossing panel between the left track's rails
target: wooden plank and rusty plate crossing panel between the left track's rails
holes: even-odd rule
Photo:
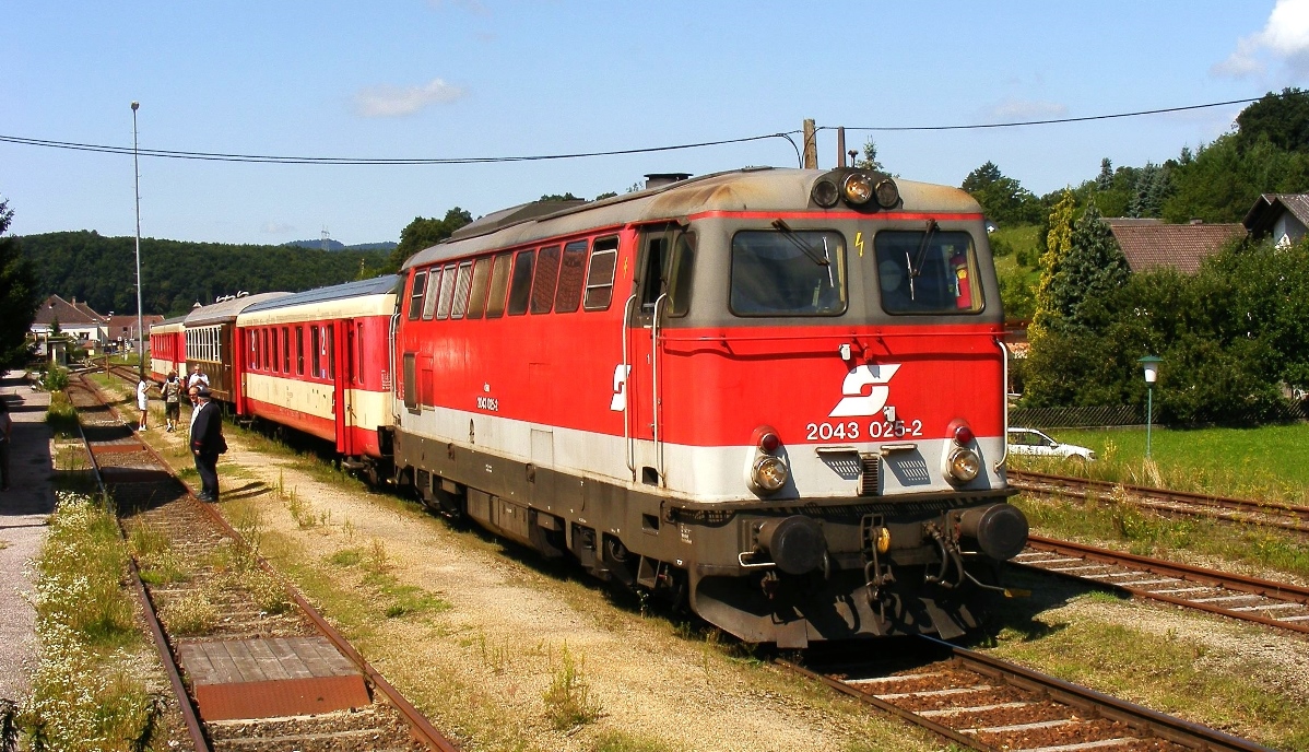
[[[206,721],[313,715],[372,704],[364,676],[323,637],[183,642],[178,658]]]

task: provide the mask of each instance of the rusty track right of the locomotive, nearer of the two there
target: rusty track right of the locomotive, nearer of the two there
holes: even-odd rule
[[[1208,613],[1309,633],[1309,588],[1139,557],[1071,541],[1028,537],[1013,563]]]

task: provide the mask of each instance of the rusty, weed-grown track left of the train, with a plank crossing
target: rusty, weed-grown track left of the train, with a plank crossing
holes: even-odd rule
[[[153,541],[131,569],[198,752],[457,749],[93,385],[72,386],[92,469],[124,533]],[[203,630],[187,618],[196,612],[212,616]]]

